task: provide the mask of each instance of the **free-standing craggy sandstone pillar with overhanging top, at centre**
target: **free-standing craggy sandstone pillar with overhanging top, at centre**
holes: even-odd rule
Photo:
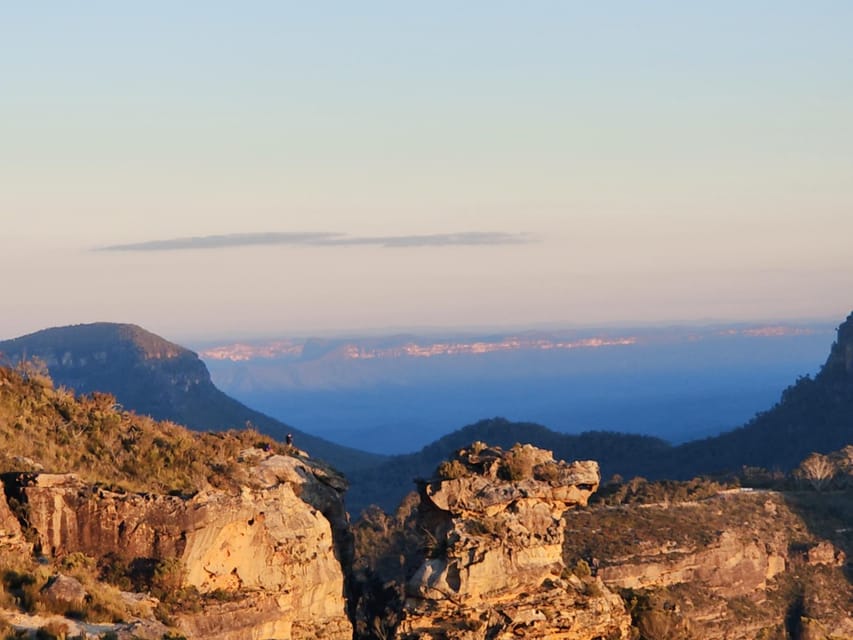
[[[435,548],[407,585],[399,637],[627,637],[622,600],[562,559],[561,518],[597,488],[597,463],[475,447],[443,470],[458,477],[421,486]]]

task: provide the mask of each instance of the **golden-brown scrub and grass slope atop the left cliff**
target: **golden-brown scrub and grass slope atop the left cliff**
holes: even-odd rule
[[[0,367],[0,472],[76,473],[130,491],[190,494],[236,487],[239,452],[284,445],[253,429],[199,433],[122,410],[105,393],[75,396],[37,366]]]

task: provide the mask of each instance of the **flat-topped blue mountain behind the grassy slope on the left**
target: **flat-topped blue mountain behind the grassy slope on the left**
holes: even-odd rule
[[[227,396],[210,380],[192,351],[132,324],[94,323],[45,329],[0,342],[10,363],[38,358],[55,384],[78,393],[113,394],[127,409],[198,430],[253,425],[298,446],[342,471],[371,466],[382,456],[343,447],[304,433]]]

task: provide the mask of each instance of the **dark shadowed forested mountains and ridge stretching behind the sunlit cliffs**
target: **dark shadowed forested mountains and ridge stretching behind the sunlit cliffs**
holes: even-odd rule
[[[300,357],[305,357],[305,348]],[[195,353],[134,325],[48,329],[0,342],[0,353],[12,362],[36,356],[45,361],[56,384],[83,393],[107,391],[126,408],[197,429],[251,422],[279,439],[291,431],[312,455],[347,472],[352,485],[347,503],[356,513],[370,503],[393,508],[412,488],[414,477],[430,475],[438,462],[475,440],[502,447],[530,442],[560,458],[596,459],[605,478],[615,473],[686,478],[737,472],[744,465],[787,470],[812,451],[829,452],[853,442],[853,314],[838,328],[837,340],[817,375],[798,379],[774,407],[743,427],[680,446],[643,435],[602,431],[568,435],[494,418],[454,431],[416,453],[382,457],[293,430],[249,409],[212,384]]]

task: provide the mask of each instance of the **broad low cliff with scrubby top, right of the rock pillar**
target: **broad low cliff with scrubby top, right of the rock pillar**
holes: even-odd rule
[[[633,601],[648,640],[853,637],[844,554],[782,494],[594,507],[566,527],[565,562]]]

